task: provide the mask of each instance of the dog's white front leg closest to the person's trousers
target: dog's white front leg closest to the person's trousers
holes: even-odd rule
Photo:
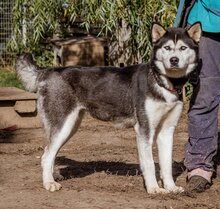
[[[157,136],[160,176],[163,186],[168,192],[183,192],[182,187],[175,185],[172,176],[173,134],[182,111],[182,103],[178,103],[164,118]]]

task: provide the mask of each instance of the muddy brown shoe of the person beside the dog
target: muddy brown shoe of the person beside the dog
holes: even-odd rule
[[[211,187],[211,183],[201,176],[192,176],[188,179],[186,189],[190,192],[201,193]]]

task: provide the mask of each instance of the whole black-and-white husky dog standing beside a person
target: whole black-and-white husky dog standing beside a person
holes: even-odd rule
[[[30,54],[16,63],[18,77],[29,91],[37,91],[38,111],[49,144],[42,156],[43,186],[51,192],[54,161],[60,148],[77,131],[84,110],[102,121],[134,121],[140,168],[148,193],[182,192],[172,177],[175,126],[182,111],[176,84],[198,65],[200,23],[189,29],[152,26],[153,52],[148,64],[116,67],[58,67],[40,69]],[[158,186],[152,156],[153,139],[159,150]]]

